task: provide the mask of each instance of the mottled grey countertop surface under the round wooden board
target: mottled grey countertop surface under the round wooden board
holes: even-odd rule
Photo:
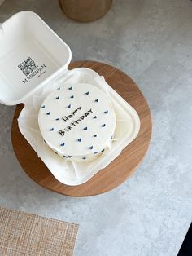
[[[72,60],[128,73],[150,105],[153,132],[129,180],[72,198],[24,173],[11,145],[15,107],[0,105],[0,205],[79,223],[75,255],[177,255],[192,216],[192,2],[114,0],[102,19],[80,24],[56,0],[6,0],[0,22],[22,10],[37,12],[71,47]]]

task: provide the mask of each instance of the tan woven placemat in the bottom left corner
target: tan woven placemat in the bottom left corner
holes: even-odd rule
[[[78,224],[0,207],[0,255],[70,256]]]

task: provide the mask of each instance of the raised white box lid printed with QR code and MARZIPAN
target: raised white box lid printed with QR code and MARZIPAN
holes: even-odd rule
[[[0,27],[0,103],[24,103],[34,91],[68,71],[68,45],[32,11]]]

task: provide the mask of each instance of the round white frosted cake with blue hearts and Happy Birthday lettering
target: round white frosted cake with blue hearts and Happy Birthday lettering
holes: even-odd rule
[[[61,86],[46,97],[38,123],[54,152],[68,160],[87,161],[110,147],[116,115],[103,90],[77,83]]]

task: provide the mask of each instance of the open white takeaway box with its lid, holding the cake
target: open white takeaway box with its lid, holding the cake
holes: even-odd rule
[[[89,68],[69,71],[71,58],[66,43],[31,11],[13,15],[0,27],[0,103],[24,104],[18,119],[20,132],[59,182],[75,186],[85,183],[120,155],[137,137],[140,120],[137,112],[98,73]],[[43,143],[38,128],[37,113],[42,100],[68,82],[98,86],[111,99],[116,112],[111,149],[94,161],[65,161]]]

